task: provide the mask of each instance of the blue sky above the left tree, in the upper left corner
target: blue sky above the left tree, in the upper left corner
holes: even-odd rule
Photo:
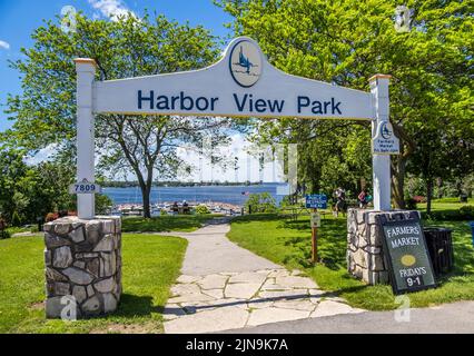
[[[20,48],[32,46],[32,31],[43,19],[53,19],[65,6],[91,18],[113,16],[126,9],[140,16],[148,9],[179,22],[201,24],[219,37],[229,33],[224,23],[231,21],[211,0],[0,0],[0,131],[12,125],[3,112],[7,93],[21,92],[19,73],[8,67],[8,60],[20,58]]]

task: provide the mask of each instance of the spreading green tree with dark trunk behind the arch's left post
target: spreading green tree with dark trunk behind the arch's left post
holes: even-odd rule
[[[14,145],[38,150],[57,144],[70,152],[76,145],[77,57],[93,58],[97,79],[110,80],[203,68],[219,53],[215,38],[201,27],[178,24],[162,16],[138,19],[124,16],[118,21],[77,17],[76,31],[63,32],[56,21],[47,21],[32,33],[32,48],[24,58],[11,62],[22,75],[23,92],[9,97],[8,112],[14,119],[8,137]],[[132,171],[150,217],[149,198],[154,176],[176,176],[182,162],[176,147],[196,145],[204,135],[214,145],[226,141],[220,128],[226,120],[206,118],[99,115],[96,117],[96,147],[99,172]]]

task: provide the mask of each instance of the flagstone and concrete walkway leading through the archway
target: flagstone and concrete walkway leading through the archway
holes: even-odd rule
[[[211,333],[363,310],[318,289],[298,270],[229,241],[228,224],[169,233],[189,241],[182,275],[165,307],[165,332]],[[245,330],[243,330],[245,332]]]

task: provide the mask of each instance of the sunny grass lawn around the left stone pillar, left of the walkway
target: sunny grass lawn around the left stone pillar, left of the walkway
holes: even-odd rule
[[[124,294],[117,313],[66,323],[45,318],[42,237],[0,240],[0,333],[160,333],[162,307],[186,245],[178,237],[124,234]]]

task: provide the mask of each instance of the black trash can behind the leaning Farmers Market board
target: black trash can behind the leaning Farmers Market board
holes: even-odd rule
[[[433,269],[436,276],[446,274],[453,269],[454,251],[452,229],[442,227],[426,227],[423,229]]]

